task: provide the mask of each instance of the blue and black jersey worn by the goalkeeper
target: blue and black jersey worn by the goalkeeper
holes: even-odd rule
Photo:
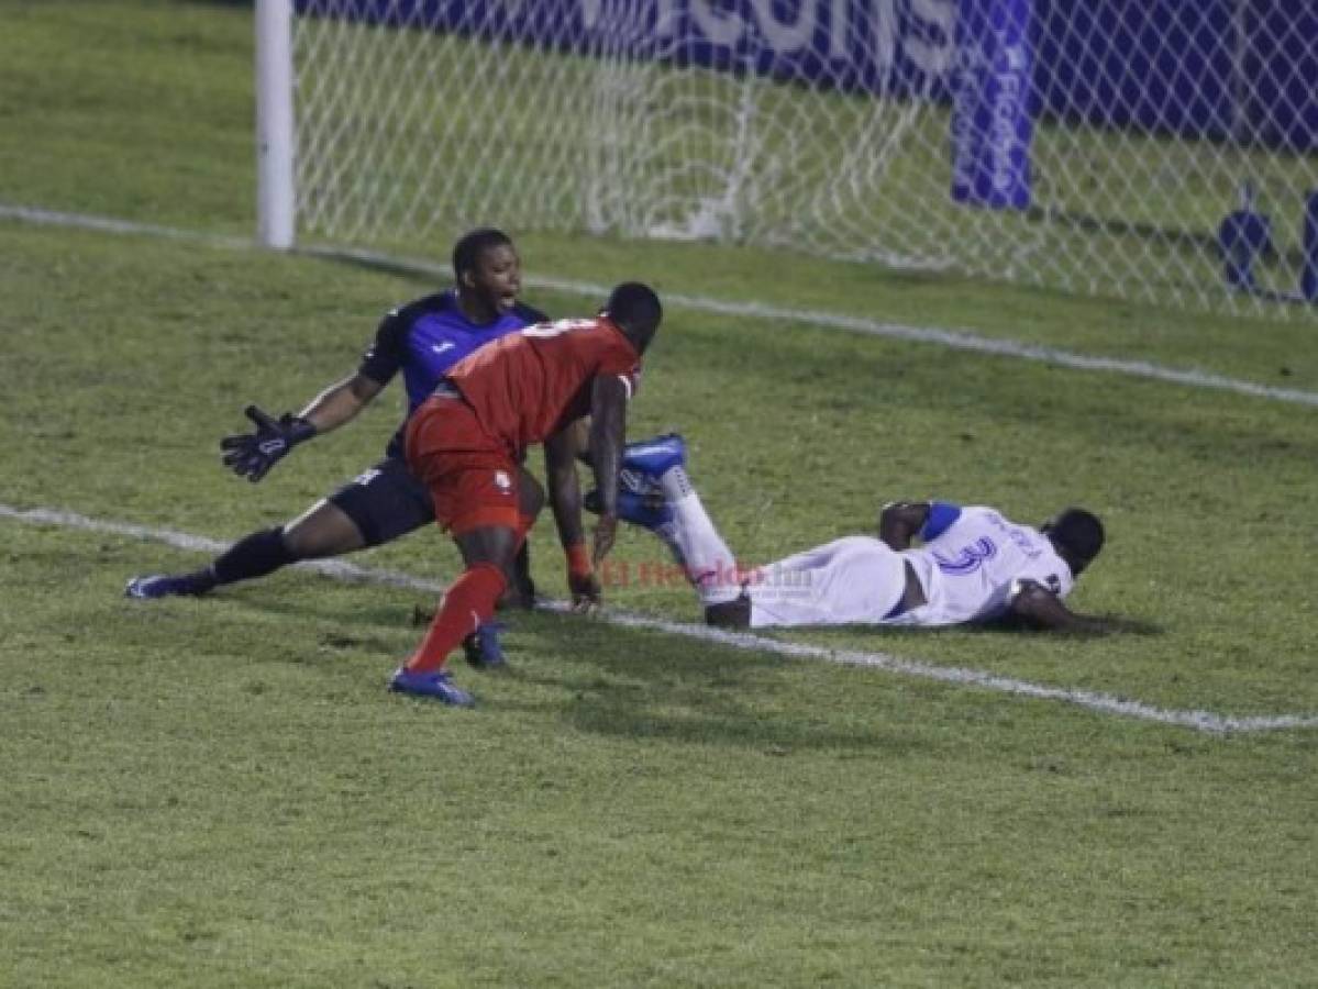
[[[492,340],[546,323],[547,317],[518,303],[493,323],[472,323],[452,288],[391,309],[361,356],[357,373],[387,385],[398,371],[407,387],[407,415],[430,398],[448,369]],[[402,456],[402,428],[389,442],[390,456]]]

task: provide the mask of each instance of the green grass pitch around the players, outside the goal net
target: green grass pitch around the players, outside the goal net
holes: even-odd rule
[[[0,0],[0,204],[253,227],[250,11]],[[55,71],[58,70],[58,71]],[[519,234],[518,230],[511,230]],[[442,262],[431,244],[395,245]],[[1297,390],[1304,324],[786,253],[519,236],[532,277],[828,311]],[[434,282],[0,219],[0,506],[232,540],[372,464],[391,386],[261,485],[216,441],[303,403]],[[594,299],[538,288],[556,315]],[[671,307],[631,433],[683,431],[731,547],[891,498],[1086,504],[1054,639],[782,633],[1169,711],[1318,712],[1311,406]],[[547,525],[539,583],[564,585]],[[283,572],[134,603],[204,553],[0,514],[0,986],[1302,986],[1318,732],[1199,732],[550,612],[453,711],[384,685],[431,595]],[[618,562],[663,561],[646,533]],[[444,581],[438,532],[357,560]],[[693,622],[685,587],[612,607]]]

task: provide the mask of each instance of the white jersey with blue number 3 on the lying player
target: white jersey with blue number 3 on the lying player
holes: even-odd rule
[[[983,622],[1007,610],[1016,579],[1037,581],[1060,598],[1075,583],[1045,535],[982,506],[962,508],[946,529],[902,556],[924,585],[927,603],[890,619],[891,624]]]

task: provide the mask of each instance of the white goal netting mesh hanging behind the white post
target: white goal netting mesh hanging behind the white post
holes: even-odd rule
[[[1311,317],[1313,7],[299,0],[299,228],[716,238]]]

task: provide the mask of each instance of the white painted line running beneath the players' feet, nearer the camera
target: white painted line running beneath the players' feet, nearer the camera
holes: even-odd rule
[[[104,532],[129,539],[165,543],[177,549],[186,549],[203,553],[217,553],[228,544],[194,536],[187,532],[153,528],[149,525],[134,525],[130,523],[91,519],[76,512],[58,508],[14,508],[0,503],[0,518],[13,519],[33,525],[58,525],[65,528],[84,529],[88,532]],[[398,570],[382,570],[339,560],[318,560],[295,564],[299,569],[314,570],[327,577],[343,581],[360,581],[366,583],[381,583],[409,590],[426,591],[439,595],[444,585],[420,577],[413,577]],[[567,611],[564,602],[542,602],[538,607],[547,611]],[[770,652],[797,660],[825,660],[828,662],[841,662],[850,666],[867,666],[886,673],[896,673],[920,680],[933,680],[957,686],[974,686],[985,690],[995,690],[1003,694],[1033,698],[1037,701],[1060,701],[1078,707],[1095,711],[1098,714],[1118,715],[1122,718],[1135,718],[1143,722],[1156,722],[1195,731],[1227,735],[1236,732],[1278,731],[1285,728],[1313,728],[1318,727],[1318,714],[1281,714],[1265,716],[1232,716],[1214,714],[1213,711],[1182,711],[1165,707],[1155,707],[1143,701],[1133,701],[1112,694],[1101,694],[1090,690],[1073,690],[1070,687],[1046,686],[1031,683],[1024,680],[1003,677],[986,670],[967,669],[963,666],[936,666],[916,660],[903,660],[898,656],[888,656],[880,652],[834,651],[805,643],[784,643],[776,639],[747,632],[724,632],[708,626],[689,624],[684,622],[667,622],[645,615],[631,615],[619,611],[604,611],[598,620],[623,628],[645,628],[668,635],[680,635],[688,639],[699,639],[705,643],[749,649],[754,652]]]

